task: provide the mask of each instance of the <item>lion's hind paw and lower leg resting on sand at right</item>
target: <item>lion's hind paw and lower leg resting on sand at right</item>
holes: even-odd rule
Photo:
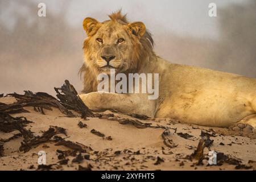
[[[241,121],[229,127],[233,131],[243,131],[245,133],[256,133],[256,114],[248,115]]]

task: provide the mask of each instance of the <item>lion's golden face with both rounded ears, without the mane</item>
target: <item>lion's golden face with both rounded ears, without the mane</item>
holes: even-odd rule
[[[108,20],[100,23],[86,18],[84,29],[88,38],[84,42],[86,65],[97,73],[125,72],[137,67],[139,40],[146,28],[143,23],[124,23]]]

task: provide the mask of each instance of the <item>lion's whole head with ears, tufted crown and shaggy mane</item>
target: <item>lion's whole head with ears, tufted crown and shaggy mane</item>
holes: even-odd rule
[[[110,20],[98,22],[85,18],[83,22],[87,38],[84,41],[85,63],[83,92],[96,91],[96,77],[100,73],[134,73],[143,62],[154,54],[150,32],[144,23],[129,23],[121,11],[109,15]],[[89,88],[92,87],[92,88]]]

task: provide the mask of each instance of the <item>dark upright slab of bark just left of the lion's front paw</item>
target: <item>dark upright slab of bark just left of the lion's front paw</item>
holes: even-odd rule
[[[82,118],[94,117],[94,114],[90,109],[84,104],[84,102],[79,97],[76,89],[65,80],[65,84],[61,88],[54,88],[57,93],[57,98],[59,98],[61,104],[67,109],[72,109],[82,114]]]

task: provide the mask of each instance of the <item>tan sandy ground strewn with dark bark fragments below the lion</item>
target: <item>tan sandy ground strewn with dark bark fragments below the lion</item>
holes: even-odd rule
[[[15,102],[12,97],[2,97],[0,102],[10,104]],[[26,107],[30,113],[12,114],[13,117],[23,116],[33,123],[28,124],[26,129],[30,129],[35,135],[42,135],[43,131],[49,126],[59,126],[67,129],[66,137],[59,134],[65,140],[79,142],[91,147],[92,151],[81,153],[80,160],[73,159],[79,157],[79,152],[75,155],[61,156],[61,151],[71,150],[65,146],[55,146],[56,142],[49,140],[46,143],[33,147],[28,152],[20,152],[20,142],[23,137],[12,139],[3,144],[4,156],[0,156],[0,170],[36,170],[40,169],[38,164],[38,152],[46,152],[46,165],[44,168],[56,170],[235,170],[237,169],[256,169],[256,137],[255,134],[244,134],[230,131],[228,129],[203,127],[179,123],[172,119],[137,119],[143,123],[151,123],[151,126],[170,127],[171,134],[169,139],[174,143],[174,148],[164,144],[162,128],[139,129],[133,125],[122,125],[117,118],[135,119],[126,114],[113,111],[105,111],[105,114],[113,113],[114,117],[86,118],[65,117],[58,109],[52,111],[45,110],[45,115],[36,112],[32,107]],[[80,128],[79,122],[87,125]],[[99,137],[91,133],[94,129],[105,134]],[[197,144],[201,139],[201,131],[213,134],[210,139],[214,140],[208,148],[204,148],[204,160],[202,164],[197,164],[196,159],[189,159]],[[11,133],[0,132],[0,139],[5,140],[12,137],[18,131]],[[182,134],[191,135],[184,138]],[[106,137],[111,137],[108,140]],[[223,152],[234,159],[241,161],[243,167],[224,162],[222,165],[208,165],[208,152],[215,150]],[[72,150],[71,150],[72,151]],[[60,164],[60,160],[65,160],[67,164]]]

